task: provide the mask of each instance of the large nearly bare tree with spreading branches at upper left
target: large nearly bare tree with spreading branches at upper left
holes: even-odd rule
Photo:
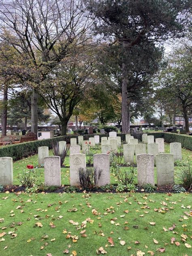
[[[32,86],[32,131],[37,134],[38,86],[87,41],[89,17],[80,0],[0,0],[1,74]],[[5,50],[6,49],[6,50]],[[14,49],[6,58],[7,49]]]

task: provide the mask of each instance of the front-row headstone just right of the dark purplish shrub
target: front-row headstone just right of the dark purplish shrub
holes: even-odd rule
[[[97,186],[105,186],[107,184],[110,184],[109,155],[108,154],[94,155],[93,166],[96,171]]]

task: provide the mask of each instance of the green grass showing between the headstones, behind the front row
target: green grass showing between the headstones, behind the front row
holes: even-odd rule
[[[94,153],[101,153],[100,149],[94,150]],[[169,153],[169,143],[165,143],[165,153]],[[52,150],[49,150],[49,156],[52,156]],[[183,160],[187,160],[187,158],[192,158],[192,153],[188,149],[182,148],[182,156]],[[18,185],[19,181],[17,179],[19,173],[22,173],[23,170],[26,170],[27,164],[32,164],[34,166],[38,165],[38,155],[30,156],[28,158],[21,159],[19,161],[16,161],[13,163],[13,182],[14,185]],[[69,156],[66,157],[65,165],[69,166]],[[129,167],[121,167],[121,169],[128,170]],[[135,168],[137,170],[137,168]],[[36,169],[38,173],[38,181],[36,182],[37,185],[44,182],[44,168],[38,168]],[[175,166],[175,173],[179,171],[179,166]],[[156,175],[156,167],[154,169],[154,177],[155,177],[155,183],[157,179]],[[69,168],[62,168],[61,169],[61,181],[63,185],[70,185],[70,179],[69,179]],[[134,183],[137,184],[137,177],[134,179]],[[117,184],[117,179],[114,177],[113,173],[111,173],[111,184]]]

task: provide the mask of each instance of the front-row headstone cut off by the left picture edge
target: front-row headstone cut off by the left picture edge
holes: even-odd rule
[[[13,158],[0,157],[0,184],[13,185]]]

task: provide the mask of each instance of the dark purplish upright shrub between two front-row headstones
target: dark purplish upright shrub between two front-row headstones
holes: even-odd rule
[[[97,168],[79,168],[79,181],[81,187],[86,189],[97,186],[101,173],[102,170]]]

